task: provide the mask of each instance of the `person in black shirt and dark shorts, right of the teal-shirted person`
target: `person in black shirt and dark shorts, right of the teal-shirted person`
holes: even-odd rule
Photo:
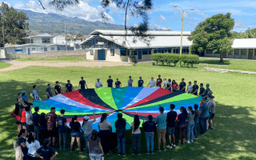
[[[166,146],[169,149],[172,149],[172,146],[175,145],[175,124],[176,124],[176,118],[177,118],[177,112],[174,111],[175,105],[170,104],[170,112],[167,114],[166,122],[167,122],[167,134],[169,135],[169,142],[170,145]],[[171,137],[173,137],[174,143],[171,143]]]

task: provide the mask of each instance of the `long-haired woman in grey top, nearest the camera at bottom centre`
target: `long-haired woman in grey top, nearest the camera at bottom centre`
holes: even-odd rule
[[[91,160],[101,160],[104,155],[101,139],[98,138],[97,130],[93,130],[91,137],[88,139],[89,156]]]

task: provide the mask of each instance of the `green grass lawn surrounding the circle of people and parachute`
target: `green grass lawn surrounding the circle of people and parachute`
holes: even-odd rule
[[[230,63],[230,67],[232,66],[238,70],[252,70],[255,64],[255,62],[234,60],[226,63]],[[256,70],[255,66],[253,70]],[[47,83],[54,85],[55,81],[59,81],[60,85],[64,86],[66,80],[70,79],[74,89],[77,90],[81,76],[85,77],[88,87],[93,88],[96,78],[101,78],[103,86],[106,86],[109,75],[113,79],[119,78],[126,86],[129,75],[132,76],[134,82],[137,82],[138,77],[142,76],[145,83],[148,83],[150,77],[157,78],[158,74],[161,74],[162,78],[175,79],[177,82],[185,78],[185,82],[197,80],[198,83],[210,83],[210,89],[214,91],[215,101],[217,102],[214,130],[207,132],[204,137],[199,137],[198,141],[194,143],[177,146],[172,150],[155,151],[154,154],[150,155],[146,154],[145,136],[142,131],[141,156],[131,155],[131,134],[128,130],[126,133],[127,156],[118,156],[117,149],[115,149],[113,150],[114,154],[106,155],[105,159],[256,159],[256,99],[254,98],[256,75],[199,72],[197,68],[152,66],[151,63],[137,66],[68,67],[66,69],[30,66],[21,70],[0,73],[2,90],[0,99],[0,159],[14,159],[13,142],[18,139],[18,133],[15,119],[10,116],[10,112],[14,110],[14,102],[18,91],[27,90],[30,93],[33,90],[32,86],[37,84],[39,96],[46,100]],[[157,145],[156,137],[155,135],[155,146]],[[68,140],[69,144],[70,140]],[[82,144],[82,146],[84,145]],[[75,146],[75,148],[77,147]],[[89,159],[85,153],[78,154],[78,150],[72,153],[57,151],[59,154],[54,158],[56,160]]]

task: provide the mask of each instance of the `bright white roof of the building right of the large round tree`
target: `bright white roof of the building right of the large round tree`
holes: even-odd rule
[[[256,48],[256,38],[234,39],[232,48]]]

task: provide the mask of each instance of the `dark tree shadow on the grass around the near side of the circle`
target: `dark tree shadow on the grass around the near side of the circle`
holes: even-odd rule
[[[17,125],[15,118],[10,116],[10,112],[14,110],[16,95],[19,91],[26,90],[28,93],[32,91],[32,86],[37,84],[38,94],[46,100],[46,84],[48,82],[37,80],[34,83],[18,82],[11,80],[1,83],[2,98],[0,99],[0,159],[14,159],[13,142],[17,140]],[[61,84],[63,86],[63,84]],[[28,96],[29,97],[29,96]],[[217,103],[216,115],[214,117],[214,130],[210,130],[204,137],[198,137],[194,143],[182,144],[174,149],[158,152],[154,154],[146,154],[146,138],[144,130],[142,130],[142,155],[132,155],[131,130],[126,131],[126,157],[118,156],[117,142],[115,134],[110,139],[113,154],[106,155],[106,159],[255,159],[256,145],[254,130],[255,118],[250,114],[251,109],[244,106],[226,106]],[[199,131],[198,127],[198,131]],[[176,130],[176,143],[178,142],[178,133]],[[168,138],[166,138],[168,145]],[[58,146],[58,138],[56,142]],[[84,138],[81,141],[84,148]],[[67,139],[67,146],[70,146],[70,131]],[[114,148],[115,147],[115,148]],[[154,136],[154,148],[157,147],[157,135]],[[75,143],[74,152],[69,150],[57,150],[58,156],[54,159],[89,159],[85,152],[78,154],[78,147]]]

